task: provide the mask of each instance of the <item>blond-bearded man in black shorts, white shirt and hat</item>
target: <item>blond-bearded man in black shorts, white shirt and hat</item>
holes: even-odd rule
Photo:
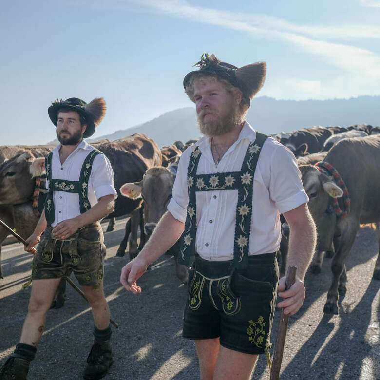
[[[203,55],[185,76],[205,135],[183,152],[168,212],[140,254],[123,267],[121,283],[136,280],[183,233],[177,260],[188,264],[182,335],[193,339],[202,380],[247,380],[257,360],[270,361],[281,240],[280,213],[290,226],[288,266],[294,285],[279,281],[278,304],[293,315],[305,297],[304,274],[316,242],[307,195],[294,155],[246,121],[250,100],[264,83],[266,64],[241,68]]]

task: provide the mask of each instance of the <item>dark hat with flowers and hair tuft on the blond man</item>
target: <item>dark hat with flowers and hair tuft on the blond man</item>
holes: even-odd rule
[[[208,53],[203,53],[201,60],[195,63],[194,66],[198,66],[199,70],[191,71],[185,76],[183,80],[185,91],[190,84],[192,76],[199,74],[215,75],[227,80],[234,87],[240,89],[248,106],[253,96],[263,87],[265,81],[265,62],[251,63],[250,65],[238,68],[227,62],[220,61],[215,54],[209,55]],[[189,97],[194,102],[191,95],[189,95]]]

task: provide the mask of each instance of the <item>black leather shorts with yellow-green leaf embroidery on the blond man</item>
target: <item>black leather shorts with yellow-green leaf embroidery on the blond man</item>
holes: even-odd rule
[[[220,344],[231,350],[268,352],[278,278],[276,253],[249,256],[243,270],[235,269],[232,261],[208,261],[196,255],[182,336],[220,337]]]

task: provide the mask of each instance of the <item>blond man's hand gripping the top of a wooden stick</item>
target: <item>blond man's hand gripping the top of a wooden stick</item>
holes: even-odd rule
[[[279,302],[277,306],[284,307],[284,314],[293,315],[297,313],[304,303],[306,289],[304,283],[296,277],[295,283],[290,286],[289,289],[285,290],[285,280],[286,277],[281,277],[278,283],[278,295],[285,298],[285,300]]]

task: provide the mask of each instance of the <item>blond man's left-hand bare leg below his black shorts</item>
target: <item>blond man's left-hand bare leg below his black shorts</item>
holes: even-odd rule
[[[201,380],[212,380],[219,354],[219,338],[200,339],[194,342],[198,354]]]

